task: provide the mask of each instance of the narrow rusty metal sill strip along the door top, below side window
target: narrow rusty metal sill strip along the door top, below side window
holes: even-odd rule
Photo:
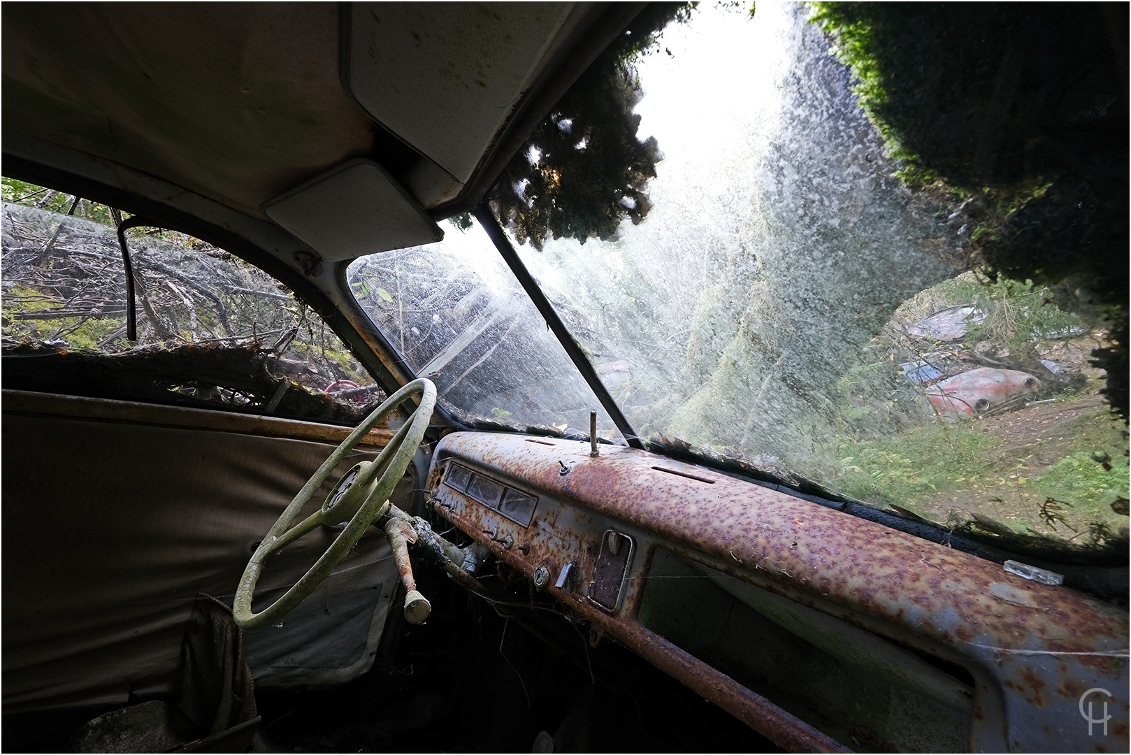
[[[90,398],[11,389],[3,391],[3,411],[6,413],[159,424],[193,430],[223,430],[270,438],[293,438],[333,444],[342,443],[353,431],[353,428],[337,424],[285,420],[261,414],[240,414],[210,409],[164,406],[116,398]],[[392,438],[391,430],[379,428],[359,440],[357,447],[383,448],[390,438]]]

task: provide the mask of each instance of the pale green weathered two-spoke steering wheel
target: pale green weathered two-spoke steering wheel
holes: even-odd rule
[[[388,417],[394,409],[413,394],[421,394],[420,406],[413,415],[397,430],[389,444],[372,462],[361,462],[354,465],[326,497],[322,507],[291,529],[291,522],[297,516],[310,497],[318,490],[330,472],[354,449],[357,441],[369,434],[373,427]],[[365,532],[365,527],[385,515],[389,509],[389,495],[408,467],[408,462],[416,453],[416,447],[424,438],[432,409],[435,406],[435,386],[428,378],[413,380],[397,391],[373,412],[362,420],[361,424],[342,441],[329,458],[311,475],[299,495],[286,507],[275,525],[267,532],[262,541],[248,561],[240,585],[235,590],[232,615],[236,626],[243,629],[259,629],[278,624],[291,609],[302,602],[314,589],[329,576],[349,549],[356,544]],[[338,534],[326,552],[310,567],[286,593],[258,614],[251,611],[251,597],[256,591],[256,582],[262,573],[267,558],[319,524],[337,526],[344,523],[345,529]]]

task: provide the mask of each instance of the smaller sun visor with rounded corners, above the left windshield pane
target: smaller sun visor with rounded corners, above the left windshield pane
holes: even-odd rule
[[[326,261],[443,239],[443,231],[383,168],[356,158],[264,204],[264,213]]]

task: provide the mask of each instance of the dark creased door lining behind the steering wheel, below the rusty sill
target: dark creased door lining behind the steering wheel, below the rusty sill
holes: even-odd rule
[[[173,689],[197,593],[231,603],[253,546],[348,432],[279,422],[5,392],[6,712]],[[336,473],[372,457],[387,436],[374,432]],[[407,506],[411,495],[403,481],[394,500]],[[313,532],[273,559],[260,601],[294,583],[335,534]],[[362,674],[396,585],[389,547],[371,529],[282,628],[247,633],[256,684]]]

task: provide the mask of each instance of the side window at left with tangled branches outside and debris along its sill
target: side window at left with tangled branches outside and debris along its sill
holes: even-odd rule
[[[385,394],[325,321],[259,268],[200,239],[126,231],[122,214],[3,179],[6,388],[353,423]]]

